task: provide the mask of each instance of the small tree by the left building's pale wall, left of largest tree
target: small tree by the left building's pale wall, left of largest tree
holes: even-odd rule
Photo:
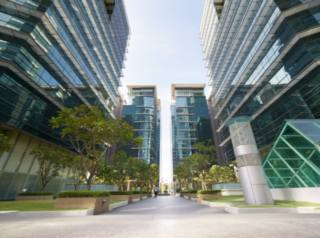
[[[37,145],[28,147],[31,148],[30,155],[34,155],[39,162],[39,170],[36,172],[41,176],[41,189],[39,192],[43,192],[48,182],[58,177],[59,171],[65,169],[74,160],[74,157],[67,153],[60,151],[51,151],[47,147],[38,147]]]

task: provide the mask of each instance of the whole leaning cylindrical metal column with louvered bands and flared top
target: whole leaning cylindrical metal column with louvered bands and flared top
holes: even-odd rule
[[[251,117],[242,116],[225,122],[231,135],[245,204],[274,205],[250,126],[251,121]]]

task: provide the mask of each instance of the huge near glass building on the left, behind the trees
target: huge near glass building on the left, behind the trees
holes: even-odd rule
[[[14,144],[0,152],[0,200],[38,192],[28,146],[74,152],[48,125],[60,108],[95,105],[115,118],[129,34],[123,0],[0,2],[0,133]],[[44,192],[63,189],[70,173],[60,174]]]

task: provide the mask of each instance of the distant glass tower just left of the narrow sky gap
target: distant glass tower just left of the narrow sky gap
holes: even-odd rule
[[[140,148],[121,146],[128,157],[146,163],[161,161],[161,103],[155,86],[127,86],[129,98],[122,107],[121,118],[133,127],[135,137],[142,137]]]

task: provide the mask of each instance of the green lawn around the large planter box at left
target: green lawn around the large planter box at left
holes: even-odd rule
[[[124,201],[111,200],[110,204]],[[9,201],[0,202],[0,211],[40,212],[40,211],[75,211],[87,210],[87,208],[53,209],[55,200],[47,201]]]

